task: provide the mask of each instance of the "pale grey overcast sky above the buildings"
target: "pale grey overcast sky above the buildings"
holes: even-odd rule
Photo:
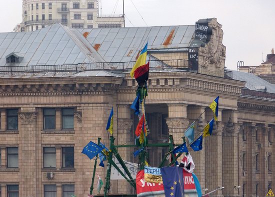
[[[102,14],[122,14],[122,0],[101,0]],[[117,7],[115,8],[116,3]],[[125,26],[194,25],[216,18],[223,29],[227,68],[261,63],[275,48],[275,0],[124,0]],[[114,12],[115,10],[115,12]],[[22,0],[0,0],[0,32],[10,32],[21,22]],[[130,23],[130,22],[131,23]]]

